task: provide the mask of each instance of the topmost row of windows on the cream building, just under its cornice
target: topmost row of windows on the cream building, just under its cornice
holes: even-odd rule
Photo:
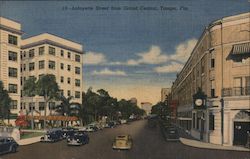
[[[49,50],[48,50],[50,55],[56,56],[56,48],[49,46]],[[33,58],[35,56],[35,49],[30,49],[28,51],[29,54],[29,58]],[[39,47],[38,48],[38,55],[44,55],[45,54],[45,47]],[[61,57],[64,57],[64,50],[60,51],[60,55]],[[21,59],[26,57],[26,51],[21,52]],[[67,53],[67,57],[68,59],[71,59],[71,52]],[[76,62],[81,62],[81,56],[80,55],[75,55],[75,61]]]

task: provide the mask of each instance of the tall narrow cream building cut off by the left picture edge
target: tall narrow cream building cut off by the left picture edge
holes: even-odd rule
[[[15,118],[20,110],[20,47],[21,24],[0,17],[0,80],[11,97],[10,118]],[[14,120],[10,120],[11,123]]]

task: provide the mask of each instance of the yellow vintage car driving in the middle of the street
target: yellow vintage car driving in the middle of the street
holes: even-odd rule
[[[118,135],[115,137],[112,148],[119,150],[129,150],[132,148],[132,138],[130,135]]]

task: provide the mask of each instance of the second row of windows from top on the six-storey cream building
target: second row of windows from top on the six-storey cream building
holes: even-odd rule
[[[45,60],[41,60],[38,62],[38,68],[39,69],[44,69],[45,68]],[[48,61],[48,68],[55,70],[56,69],[56,62],[55,61]],[[61,70],[64,70],[64,64],[60,64]],[[29,71],[35,70],[35,62],[29,63]],[[71,71],[71,65],[67,65],[67,70]],[[21,72],[26,71],[26,64],[21,65]],[[75,74],[81,74],[81,68],[80,67],[75,67]]]

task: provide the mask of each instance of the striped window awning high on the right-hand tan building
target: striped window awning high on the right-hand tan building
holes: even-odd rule
[[[250,54],[250,42],[233,45],[231,54],[232,55]]]

